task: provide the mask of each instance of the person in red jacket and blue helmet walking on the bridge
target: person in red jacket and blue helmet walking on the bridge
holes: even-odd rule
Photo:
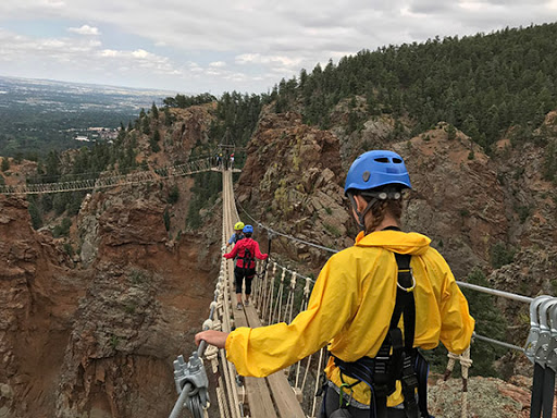
[[[232,251],[223,255],[224,258],[231,259],[236,257],[236,267],[234,268],[234,278],[236,279],[236,298],[237,309],[242,309],[242,285],[246,280],[246,306],[249,305],[249,295],[251,295],[251,281],[256,275],[256,257],[260,260],[267,260],[268,254],[261,254],[259,244],[251,238],[253,226],[244,226],[244,239],[236,243]]]

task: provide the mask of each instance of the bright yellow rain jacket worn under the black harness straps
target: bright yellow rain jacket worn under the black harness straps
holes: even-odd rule
[[[431,349],[441,340],[449,352],[462,353],[470,344],[474,320],[447,262],[430,243],[430,238],[417,233],[360,233],[352,247],[334,255],[323,267],[307,310],[289,324],[236,329],[226,339],[226,357],[239,374],[252,377],[269,376],[327,343],[331,353],[345,361],[374,357],[395,308],[398,268],[392,251],[413,256],[414,346]],[[332,357],[325,371],[333,383],[342,384]],[[347,383],[354,382],[343,378]],[[369,404],[368,385],[354,386],[352,396]],[[403,401],[397,382],[387,406]]]

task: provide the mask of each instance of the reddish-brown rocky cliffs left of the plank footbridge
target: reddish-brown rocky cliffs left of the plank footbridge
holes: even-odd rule
[[[200,107],[174,112],[170,127],[153,122],[162,149],[144,149],[138,162],[187,160],[206,140],[206,116]],[[172,361],[194,349],[220,261],[219,231],[184,231],[191,184],[87,196],[64,238],[74,257],[48,229],[32,229],[25,200],[0,196],[0,417],[170,414]]]

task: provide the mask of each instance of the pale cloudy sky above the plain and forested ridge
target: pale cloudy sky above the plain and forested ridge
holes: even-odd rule
[[[557,22],[557,0],[3,0],[0,76],[261,94],[359,50]]]

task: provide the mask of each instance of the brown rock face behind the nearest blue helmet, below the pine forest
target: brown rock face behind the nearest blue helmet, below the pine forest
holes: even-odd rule
[[[557,136],[556,114],[549,113],[540,128],[552,140],[556,140],[552,135]],[[368,146],[387,148],[405,158],[412,181],[404,229],[429,235],[457,279],[474,267],[490,273],[498,245],[515,248],[519,266],[520,250],[525,248],[541,248],[547,253],[542,259],[553,258],[557,196],[542,176],[543,147],[534,143],[500,146],[487,156],[465,134],[449,133],[445,123],[393,143],[391,122],[370,120],[355,136],[338,126],[331,131],[306,126],[296,113],[263,113],[238,182],[240,205],[278,231],[342,249],[357,232],[343,197],[346,170]],[[280,251],[312,261],[310,269],[326,259],[320,250],[281,242],[276,244]],[[550,271],[550,263],[544,266],[542,271]],[[543,288],[550,290],[547,281]]]

